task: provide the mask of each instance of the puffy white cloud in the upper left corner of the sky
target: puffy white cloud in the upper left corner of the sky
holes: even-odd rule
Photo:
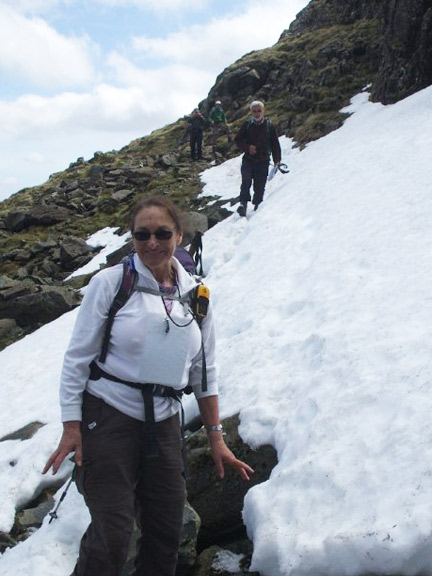
[[[44,88],[92,82],[95,46],[88,37],[66,38],[40,18],[0,5],[0,69]]]

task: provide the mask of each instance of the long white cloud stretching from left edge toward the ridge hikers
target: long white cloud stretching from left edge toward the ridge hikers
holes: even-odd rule
[[[110,64],[123,86],[98,84],[91,92],[63,92],[50,97],[21,96],[0,100],[1,140],[24,140],[38,134],[124,132],[140,127],[144,135],[190,112],[212,77],[185,66],[141,70],[119,55]],[[137,134],[138,135],[138,134]]]

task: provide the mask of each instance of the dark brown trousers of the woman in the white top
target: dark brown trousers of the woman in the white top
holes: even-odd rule
[[[91,515],[72,576],[121,576],[134,520],[136,576],[174,576],[185,503],[178,415],[157,422],[157,458],[143,422],[84,392],[77,486]]]

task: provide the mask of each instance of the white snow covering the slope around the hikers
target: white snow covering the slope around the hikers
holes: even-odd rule
[[[239,413],[243,440],[278,455],[244,502],[262,576],[432,573],[431,108],[432,87],[390,106],[362,93],[304,150],[282,137],[290,172],[257,212],[233,206],[203,237],[221,415]],[[203,195],[237,196],[239,169],[237,157],[203,172]],[[103,230],[89,242],[112,251],[126,239]],[[76,314],[0,352],[0,438],[46,424],[0,442],[0,531],[53,479],[41,470],[61,433]],[[0,573],[69,574],[88,520],[72,485],[59,518],[7,550]],[[236,558],[220,561],[235,572]]]

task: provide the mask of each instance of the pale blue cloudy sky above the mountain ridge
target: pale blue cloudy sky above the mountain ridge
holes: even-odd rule
[[[0,201],[190,114],[308,1],[0,0]]]

